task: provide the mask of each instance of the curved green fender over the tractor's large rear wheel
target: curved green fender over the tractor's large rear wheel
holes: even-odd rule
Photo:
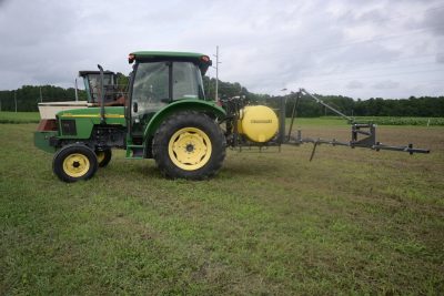
[[[225,110],[216,105],[216,103],[213,101],[198,101],[198,100],[175,101],[164,106],[160,111],[158,111],[154,114],[154,116],[151,118],[150,122],[147,124],[143,137],[148,139],[150,136],[153,136],[155,131],[162,124],[162,122],[171,114],[186,110],[202,112],[209,114],[211,118],[214,119],[223,119],[226,116]]]

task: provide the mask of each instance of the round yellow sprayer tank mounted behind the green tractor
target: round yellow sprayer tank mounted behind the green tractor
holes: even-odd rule
[[[258,143],[270,141],[279,129],[274,111],[264,105],[251,105],[241,110],[238,131],[249,140]]]

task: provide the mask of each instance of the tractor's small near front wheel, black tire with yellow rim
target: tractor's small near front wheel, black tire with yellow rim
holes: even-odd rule
[[[82,144],[60,149],[52,161],[52,171],[63,182],[91,178],[98,170],[94,151]]]

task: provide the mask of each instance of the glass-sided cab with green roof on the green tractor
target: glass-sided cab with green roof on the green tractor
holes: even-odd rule
[[[158,111],[179,101],[205,101],[202,75],[208,55],[189,52],[140,51],[129,55],[131,74],[130,126],[139,135]]]

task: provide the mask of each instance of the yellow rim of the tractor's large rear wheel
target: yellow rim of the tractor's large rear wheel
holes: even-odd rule
[[[168,145],[171,161],[185,171],[194,171],[204,166],[211,157],[211,151],[210,137],[195,127],[176,131]]]

